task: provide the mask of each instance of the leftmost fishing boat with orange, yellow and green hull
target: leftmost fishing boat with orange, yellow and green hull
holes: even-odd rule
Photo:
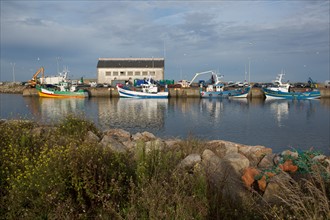
[[[37,84],[36,89],[40,97],[47,98],[87,98],[89,96],[87,91],[78,89],[76,85],[70,82],[60,82],[55,87]]]

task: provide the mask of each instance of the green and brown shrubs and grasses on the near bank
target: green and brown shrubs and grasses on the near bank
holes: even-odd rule
[[[258,197],[246,206],[225,198],[221,183],[213,187],[202,166],[178,168],[187,155],[202,153],[203,141],[188,138],[164,149],[156,145],[147,148],[139,141],[134,150],[116,153],[100,143],[86,141],[89,131],[102,137],[93,123],[75,116],[53,126],[0,122],[0,218],[330,217],[329,179],[314,168],[313,175],[301,184],[283,186],[288,192],[283,206],[260,205]],[[307,160],[303,155],[301,158]],[[304,168],[308,169],[310,166]],[[291,201],[298,199],[300,203]],[[311,201],[313,206],[308,205]]]

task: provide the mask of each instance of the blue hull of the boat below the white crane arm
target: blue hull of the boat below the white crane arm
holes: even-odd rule
[[[249,91],[250,87],[227,91],[200,91],[200,96],[201,98],[246,98]]]

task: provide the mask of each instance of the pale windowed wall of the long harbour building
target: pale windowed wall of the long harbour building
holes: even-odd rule
[[[113,80],[144,79],[151,76],[154,80],[164,79],[164,68],[98,68],[97,82],[109,83]]]

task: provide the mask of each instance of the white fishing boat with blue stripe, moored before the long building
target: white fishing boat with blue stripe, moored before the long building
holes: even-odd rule
[[[149,78],[145,83],[136,88],[129,85],[117,84],[116,85],[119,96],[124,98],[168,98],[168,91],[159,91],[157,84],[151,82]]]

